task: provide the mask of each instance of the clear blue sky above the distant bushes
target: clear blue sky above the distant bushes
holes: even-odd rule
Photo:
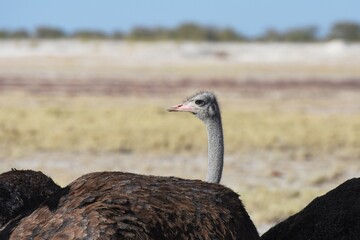
[[[10,30],[54,26],[111,32],[195,22],[255,36],[268,28],[309,25],[324,33],[342,20],[360,23],[359,0],[0,0],[0,29]]]

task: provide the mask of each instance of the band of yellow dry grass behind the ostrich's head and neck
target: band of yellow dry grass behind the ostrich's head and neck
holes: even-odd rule
[[[190,114],[167,113],[156,100],[20,94],[3,96],[0,104],[2,156],[39,150],[198,153],[206,148],[200,121]],[[228,153],[291,151],[296,159],[340,150],[347,157],[360,155],[358,113],[289,112],[274,107],[274,102],[255,104],[264,106],[223,104]]]

